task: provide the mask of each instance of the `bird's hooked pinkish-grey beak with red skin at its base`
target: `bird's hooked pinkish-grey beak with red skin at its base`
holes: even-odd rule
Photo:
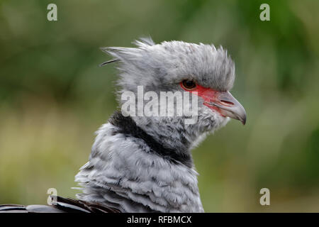
[[[211,109],[216,109],[222,116],[229,116],[246,123],[246,111],[242,104],[237,101],[230,92],[207,91],[204,104]],[[211,93],[211,95],[210,95]],[[208,99],[209,97],[209,99]]]

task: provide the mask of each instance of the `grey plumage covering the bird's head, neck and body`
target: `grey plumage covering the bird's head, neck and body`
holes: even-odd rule
[[[157,94],[183,92],[179,83],[184,79],[223,94],[225,100],[209,107],[211,100],[205,103],[198,99],[198,121],[194,124],[186,124],[186,116],[125,118],[114,114],[96,132],[89,162],[75,177],[82,189],[77,194],[79,201],[60,198],[62,206],[54,206],[52,212],[61,207],[72,211],[94,211],[92,207],[104,211],[101,207],[106,207],[106,211],[121,212],[203,212],[191,149],[208,133],[225,126],[228,116],[245,123],[245,109],[228,92],[235,79],[234,63],[226,50],[214,45],[181,41],[155,44],[150,38],[136,40],[135,45],[101,48],[113,57],[101,66],[118,64],[120,105],[121,94],[136,94],[138,86]],[[216,106],[223,111],[215,111]],[[38,211],[41,206],[29,209]]]

